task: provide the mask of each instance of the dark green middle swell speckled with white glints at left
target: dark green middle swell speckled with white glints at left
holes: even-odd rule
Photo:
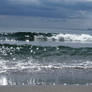
[[[0,58],[28,58],[28,57],[88,57],[92,56],[91,47],[81,47],[81,48],[72,48],[68,46],[35,46],[35,45],[10,45],[10,44],[0,44]]]

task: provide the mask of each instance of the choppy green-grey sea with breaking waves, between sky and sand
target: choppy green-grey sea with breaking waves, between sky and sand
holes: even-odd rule
[[[92,30],[0,32],[0,85],[92,85]]]

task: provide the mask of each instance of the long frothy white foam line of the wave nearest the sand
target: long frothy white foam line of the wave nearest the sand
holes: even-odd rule
[[[9,64],[7,64],[9,63]],[[0,60],[0,73],[7,72],[7,71],[13,71],[13,70],[26,70],[30,72],[38,72],[42,71],[44,69],[92,69],[92,62],[86,61],[82,63],[74,63],[74,64],[39,64],[39,63],[31,63],[31,62],[10,62],[10,61],[4,61]]]

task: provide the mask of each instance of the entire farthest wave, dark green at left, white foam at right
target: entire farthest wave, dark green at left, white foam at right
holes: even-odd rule
[[[0,41],[59,41],[59,42],[92,42],[89,34],[62,34],[62,33],[0,33]]]

